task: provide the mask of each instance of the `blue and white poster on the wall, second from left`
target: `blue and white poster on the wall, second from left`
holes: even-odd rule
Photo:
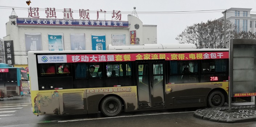
[[[64,50],[63,33],[48,33],[49,51]]]

